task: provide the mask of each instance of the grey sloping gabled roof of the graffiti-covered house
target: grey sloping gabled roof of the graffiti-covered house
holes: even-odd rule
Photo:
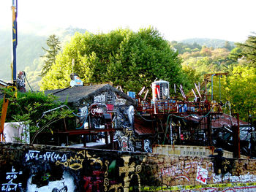
[[[52,93],[59,98],[59,101],[67,101],[69,104],[73,104],[75,107],[80,106],[80,103],[84,100],[94,99],[95,95],[98,95],[104,91],[111,91],[118,94],[118,96],[127,99],[130,104],[135,105],[135,99],[127,96],[126,93],[113,88],[109,84],[99,84],[99,85],[89,85],[89,86],[74,86],[72,88],[62,88],[56,90],[47,90],[45,94],[48,95]]]

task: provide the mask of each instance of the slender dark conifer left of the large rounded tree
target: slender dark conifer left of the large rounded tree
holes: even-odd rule
[[[46,44],[48,45],[49,49],[47,50],[44,47],[42,47],[42,49],[46,51],[46,54],[42,56],[43,58],[45,58],[41,72],[42,77],[45,76],[45,74],[47,74],[47,72],[50,70],[50,67],[55,63],[56,55],[61,50],[60,43],[61,42],[59,42],[59,38],[56,37],[55,34],[53,34],[50,35],[50,37],[48,37],[46,41]]]

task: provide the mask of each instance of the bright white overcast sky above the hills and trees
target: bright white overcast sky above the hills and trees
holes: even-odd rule
[[[0,0],[0,29],[11,31],[11,5]],[[151,26],[169,41],[243,42],[256,32],[255,7],[255,0],[18,0],[18,33],[72,26],[95,34]]]

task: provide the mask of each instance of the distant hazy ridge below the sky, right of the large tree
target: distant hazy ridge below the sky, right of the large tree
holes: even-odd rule
[[[220,48],[225,47],[225,42],[228,42],[223,39],[210,39],[210,38],[192,38],[192,39],[184,39],[179,42],[187,43],[190,45],[193,45],[194,43],[197,43],[198,45],[205,45],[206,47],[214,47],[214,48]],[[235,42],[229,42],[232,47],[235,47]]]

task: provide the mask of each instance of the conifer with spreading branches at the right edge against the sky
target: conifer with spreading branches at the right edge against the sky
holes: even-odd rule
[[[256,33],[252,33],[255,34]],[[244,43],[236,44],[239,48],[241,48],[240,58],[244,58],[246,60],[247,66],[256,66],[256,36],[251,35],[246,39]]]

